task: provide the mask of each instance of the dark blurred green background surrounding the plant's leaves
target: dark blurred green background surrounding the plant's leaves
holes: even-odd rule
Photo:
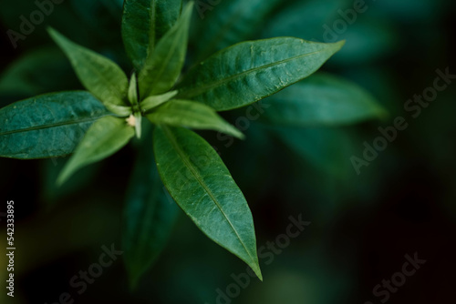
[[[65,56],[47,36],[52,25],[83,46],[131,66],[120,38],[121,0],[67,0],[14,48],[6,35],[34,1],[0,4],[0,106],[47,92],[82,88]],[[161,258],[129,290],[118,259],[81,295],[69,286],[79,270],[98,261],[101,247],[120,248],[121,212],[135,147],[79,172],[64,187],[54,180],[65,158],[0,159],[1,198],[16,203],[16,296],[5,297],[5,246],[1,246],[2,303],[55,303],[69,292],[76,303],[381,303],[373,289],[401,271],[404,256],[427,262],[390,294],[389,303],[453,301],[456,283],[456,84],[440,92],[420,117],[404,104],[432,86],[436,70],[456,74],[455,3],[448,0],[366,1],[348,23],[340,12],[357,1],[199,1],[188,66],[246,39],[279,35],[347,45],[323,70],[368,89],[389,110],[384,121],[345,127],[286,127],[264,117],[248,121],[245,141],[202,132],[217,147],[254,214],[257,244],[275,241],[289,217],[311,224],[280,254],[262,259],[264,282],[251,279],[239,295],[219,297],[244,264],[219,248],[181,214]],[[203,5],[205,4],[205,5]],[[204,11],[204,7],[206,10]],[[224,18],[232,17],[223,27]],[[342,21],[341,21],[342,20]],[[344,25],[345,21],[345,25]],[[341,27],[334,27],[339,25]],[[334,31],[327,34],[327,28]],[[223,36],[213,38],[214,33]],[[267,100],[264,101],[267,103]],[[226,118],[236,122],[245,108]],[[361,157],[395,117],[409,127],[357,175]],[[3,123],[3,122],[1,122]],[[5,212],[5,204],[1,204]],[[2,238],[5,237],[2,218]],[[5,237],[6,238],[6,237]],[[2,244],[5,244],[2,241]],[[266,264],[265,261],[268,261]],[[234,289],[233,289],[234,290]]]

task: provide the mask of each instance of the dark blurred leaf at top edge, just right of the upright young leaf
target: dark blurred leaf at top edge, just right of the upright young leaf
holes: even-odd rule
[[[199,58],[204,59],[224,47],[252,38],[265,17],[281,2],[283,0],[223,1],[211,12],[207,11],[211,2],[197,2],[196,10],[202,22],[193,40]]]

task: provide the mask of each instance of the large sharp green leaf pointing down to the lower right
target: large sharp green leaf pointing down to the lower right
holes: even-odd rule
[[[252,213],[215,150],[191,130],[156,127],[154,152],[161,180],[183,211],[262,279]]]

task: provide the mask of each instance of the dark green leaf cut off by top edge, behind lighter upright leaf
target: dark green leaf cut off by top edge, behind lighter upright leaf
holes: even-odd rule
[[[181,14],[181,0],[125,0],[122,37],[138,70]]]

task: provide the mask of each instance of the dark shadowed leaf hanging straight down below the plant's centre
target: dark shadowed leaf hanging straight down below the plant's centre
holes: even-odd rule
[[[140,142],[123,210],[123,258],[134,288],[165,247],[179,214],[161,183],[152,149],[152,135]]]

